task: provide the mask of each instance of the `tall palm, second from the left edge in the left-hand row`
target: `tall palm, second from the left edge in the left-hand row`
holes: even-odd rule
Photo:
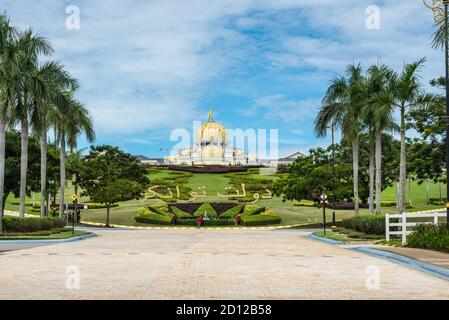
[[[31,108],[33,100],[42,95],[42,83],[36,72],[37,60],[40,54],[49,55],[53,52],[50,43],[31,29],[20,34],[17,41],[17,101],[13,110],[13,122],[19,122],[21,127],[21,158],[20,158],[20,217],[25,216],[25,200],[28,169],[28,136]]]

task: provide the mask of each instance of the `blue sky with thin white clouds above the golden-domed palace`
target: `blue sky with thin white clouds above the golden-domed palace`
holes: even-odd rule
[[[80,9],[79,30],[65,26],[68,5]],[[365,26],[370,5],[379,29]],[[399,70],[427,57],[425,83],[444,69],[421,0],[0,0],[0,10],[50,39],[80,79],[97,144],[152,157],[210,106],[226,127],[278,129],[281,156],[308,151],[328,143],[313,119],[347,64]]]

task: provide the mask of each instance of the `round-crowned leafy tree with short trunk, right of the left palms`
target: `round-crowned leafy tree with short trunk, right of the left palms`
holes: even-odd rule
[[[146,169],[138,159],[117,147],[91,147],[83,159],[80,187],[92,201],[106,205],[106,226],[109,226],[111,205],[142,198],[149,183]]]

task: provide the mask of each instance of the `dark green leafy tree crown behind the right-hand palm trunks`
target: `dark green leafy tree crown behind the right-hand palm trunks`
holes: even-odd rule
[[[367,202],[369,195],[369,149],[367,141],[360,141],[359,197]],[[390,136],[382,137],[382,189],[389,187],[398,176],[398,142]],[[310,155],[298,158],[289,166],[290,173],[274,182],[273,191],[283,200],[317,201],[321,193],[330,196],[332,190],[332,148],[310,150]],[[353,197],[352,149],[347,145],[335,145],[335,196],[338,201]]]

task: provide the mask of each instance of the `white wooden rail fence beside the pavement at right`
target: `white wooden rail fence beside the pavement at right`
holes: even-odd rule
[[[407,222],[408,218],[419,218],[423,221]],[[402,214],[386,214],[385,215],[385,236],[386,240],[390,241],[391,235],[400,235],[402,238],[402,244],[407,243],[407,235],[413,231],[407,230],[407,227],[416,227],[420,224],[434,224],[440,223],[440,218],[446,218],[446,212],[433,212],[433,213],[402,213]],[[390,220],[396,220],[397,222],[390,222]],[[390,231],[391,227],[399,227],[400,231]]]

